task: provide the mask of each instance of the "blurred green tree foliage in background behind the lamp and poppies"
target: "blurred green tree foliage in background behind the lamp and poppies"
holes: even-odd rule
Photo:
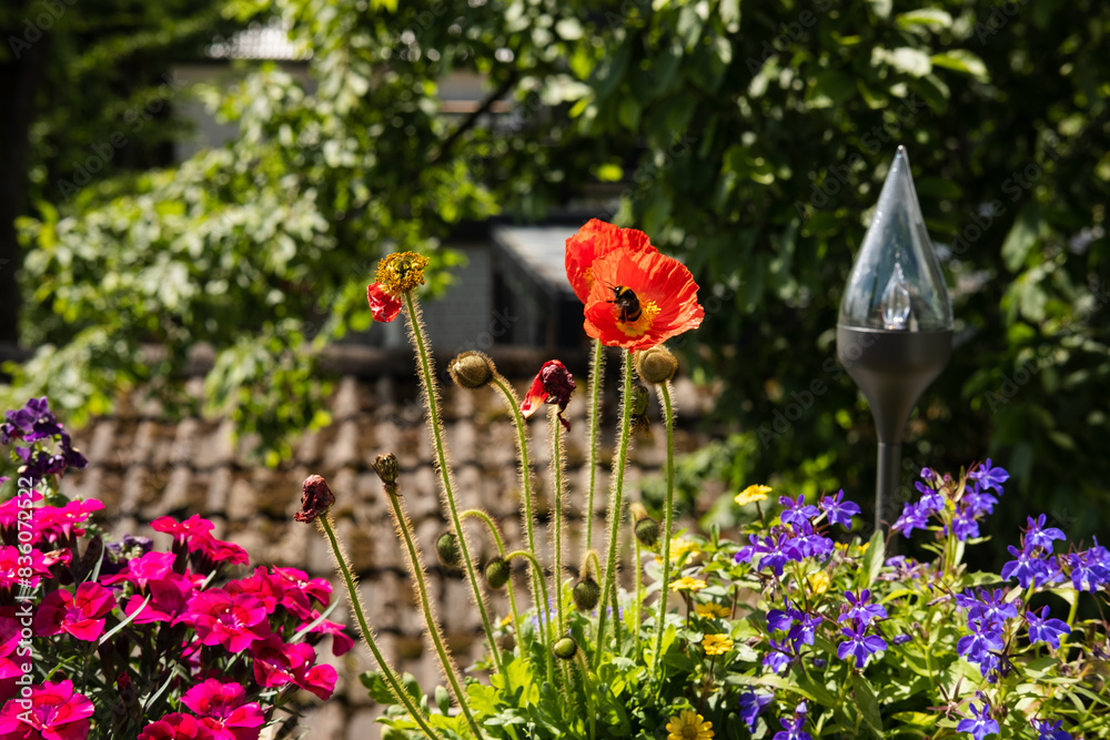
[[[3,143],[28,152],[6,175],[30,196],[14,211],[21,251],[4,242],[4,254],[22,263],[20,341],[37,349],[9,365],[9,406],[48,393],[80,422],[142,385],[186,410],[188,351],[209,343],[209,410],[258,433],[276,464],[291,435],[326,420],[316,353],[370,325],[382,254],[430,254],[438,290],[456,259],[440,245],[458,224],[585,204],[646,231],[703,286],[707,320],[678,345],[696,378],[723,383],[727,434],[683,465],[687,499],[724,478],[844,487],[866,506],[875,435],[836,363],[835,325],[901,143],[956,315],[907,473],[989,456],[1013,476],[989,523],[996,548],[1039,511],[1089,539],[1110,518],[1110,7],[845,4],[67,7],[53,41],[3,61],[26,74],[27,52],[41,53],[47,70],[22,93],[26,140]],[[274,16],[311,50],[311,88],[262,65],[209,89],[240,124],[234,142],[148,170],[151,131],[63,196],[72,162],[119,129],[141,85],[213,31]],[[120,32],[121,17],[138,20]],[[0,17],[13,33],[24,20]],[[104,53],[107,29],[114,53],[98,74],[69,74]],[[120,77],[135,65],[142,79]],[[514,111],[442,115],[437,83],[458,70]],[[157,362],[150,344],[164,347]]]

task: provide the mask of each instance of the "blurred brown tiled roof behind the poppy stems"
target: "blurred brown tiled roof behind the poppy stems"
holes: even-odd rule
[[[521,359],[518,355],[515,357]],[[537,355],[534,363],[521,365],[539,367],[541,363]],[[301,483],[310,474],[323,475],[335,493],[337,500],[332,513],[336,529],[360,577],[363,602],[380,645],[398,669],[413,673],[430,690],[442,679],[434,653],[425,649],[404,555],[393,531],[382,484],[371,468],[376,455],[392,452],[397,456],[404,504],[425,553],[445,637],[460,665],[470,665],[480,656],[481,627],[465,581],[436,564],[433,544],[435,536],[446,528],[446,521],[440,510],[438,478],[432,465],[418,387],[414,379],[389,372],[389,364],[372,364],[379,372],[369,377],[344,376],[331,402],[332,424],[301,439],[293,459],[276,469],[244,459],[241,445],[232,440],[232,425],[226,419],[185,418],[172,423],[122,409],[74,433],[75,444],[90,465],[67,476],[62,490],[71,497],[102,500],[105,509],[101,514],[107,517],[103,526],[115,537],[127,533],[153,536],[161,548],[169,547],[169,537],[153,533],[149,527],[151,520],[163,515],[183,518],[201,514],[215,523],[215,536],[248,550],[252,567],[279,565],[304,569],[312,576],[327,578],[335,587],[336,598],[342,599],[323,538],[314,527],[293,521],[300,506]],[[616,363],[610,365],[615,369]],[[523,395],[527,382],[531,378],[514,383],[519,394]],[[609,387],[616,387],[615,378]],[[578,394],[567,412],[572,432],[566,442],[566,501],[572,525],[565,551],[571,554],[582,551],[582,509],[588,481],[584,388],[582,377]],[[487,388],[473,392],[454,386],[443,387],[442,395],[461,506],[485,508],[498,521],[507,546],[522,543],[515,427],[500,395]],[[676,382],[675,396],[680,409],[676,443],[679,449],[690,449],[696,436],[694,422],[712,399],[686,379]],[[650,414],[653,418],[658,416],[654,409]],[[612,399],[604,409],[608,424],[601,435],[606,446],[602,450],[604,465],[598,472],[597,517],[606,506],[615,417],[616,403]],[[541,517],[547,516],[549,491],[546,472],[551,453],[545,418],[546,415],[539,414],[529,423],[533,483],[537,489],[535,508]],[[655,426],[650,440],[637,437],[633,446],[633,467],[627,477],[632,500],[638,497],[636,481],[658,472],[665,462],[665,436],[662,426]],[[468,531],[476,557],[484,561],[493,554],[493,546],[480,536],[477,528]],[[543,537],[546,529],[541,527],[538,533]],[[604,536],[595,525],[596,547],[604,546]],[[547,546],[541,550],[541,559],[545,560]],[[569,567],[576,567],[577,556],[567,560]],[[519,582],[518,592],[526,594],[524,580]],[[493,614],[507,614],[501,594],[495,594],[491,602]],[[349,619],[345,602],[332,619]],[[320,652],[333,661],[340,681],[330,702],[306,696],[309,710],[302,726],[311,727],[307,737],[351,740],[379,737],[380,726],[373,720],[381,708],[372,703],[357,679],[361,671],[375,667],[369,651],[360,646],[342,658],[332,658],[326,648]]]

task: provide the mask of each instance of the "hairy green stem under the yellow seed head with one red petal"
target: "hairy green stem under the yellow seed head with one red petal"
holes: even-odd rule
[[[435,387],[435,373],[432,372],[432,359],[424,343],[423,322],[421,321],[420,307],[413,301],[412,292],[406,292],[405,308],[408,314],[408,331],[412,334],[413,343],[416,345],[416,354],[420,359],[420,379],[424,389],[424,401],[427,406],[427,424],[432,432],[432,442],[435,446],[436,468],[440,470],[440,478],[443,483],[443,500],[451,511],[451,523],[455,527],[458,537],[458,551],[463,556],[463,566],[466,570],[466,579],[471,584],[471,591],[474,596],[474,604],[478,608],[482,618],[482,627],[485,629],[486,640],[490,642],[490,657],[498,673],[504,672],[501,651],[493,637],[493,626],[490,622],[490,612],[486,609],[485,599],[482,597],[482,588],[478,586],[478,577],[474,570],[474,559],[471,557],[471,548],[466,543],[466,531],[463,529],[463,521],[458,517],[458,506],[455,504],[455,491],[451,480],[451,467],[447,464],[446,447],[443,443],[443,422],[440,418],[440,402]]]

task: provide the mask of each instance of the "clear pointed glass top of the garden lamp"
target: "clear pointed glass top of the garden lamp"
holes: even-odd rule
[[[851,266],[839,323],[895,332],[952,327],[952,304],[925,229],[905,146],[895,154]]]

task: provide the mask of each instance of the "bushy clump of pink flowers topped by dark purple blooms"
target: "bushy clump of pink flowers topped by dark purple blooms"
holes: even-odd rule
[[[89,521],[101,501],[59,493],[87,460],[44,397],[7,413],[0,443],[19,465],[0,504],[0,738],[254,740],[294,729],[294,692],[332,696],[313,646],[354,642],[327,619],[326,580],[245,570],[199,515],[151,523],[168,553],[109,541]]]

